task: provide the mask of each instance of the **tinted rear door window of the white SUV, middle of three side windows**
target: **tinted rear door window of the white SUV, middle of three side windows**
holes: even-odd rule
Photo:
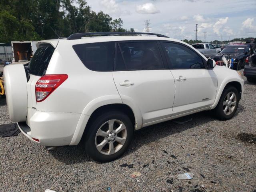
[[[120,43],[115,70],[157,70],[164,64],[156,42]]]

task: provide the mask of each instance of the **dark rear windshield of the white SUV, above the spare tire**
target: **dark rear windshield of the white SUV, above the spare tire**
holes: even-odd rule
[[[54,47],[50,44],[41,44],[32,57],[28,69],[29,73],[36,76],[44,76],[48,64],[52,58]]]

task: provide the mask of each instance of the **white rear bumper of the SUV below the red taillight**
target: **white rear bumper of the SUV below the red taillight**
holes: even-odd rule
[[[81,114],[28,110],[27,122],[18,122],[20,131],[44,146],[69,145]],[[33,140],[38,139],[39,142]]]

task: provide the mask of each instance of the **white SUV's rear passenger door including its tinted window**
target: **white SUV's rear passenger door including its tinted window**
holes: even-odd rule
[[[139,108],[143,124],[172,115],[174,78],[159,42],[116,42],[113,78],[122,102]]]

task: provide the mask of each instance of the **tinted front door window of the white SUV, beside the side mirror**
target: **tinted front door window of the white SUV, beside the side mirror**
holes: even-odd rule
[[[205,68],[202,58],[190,48],[176,44],[164,42],[164,51],[169,58],[169,68],[171,69],[200,69]]]

